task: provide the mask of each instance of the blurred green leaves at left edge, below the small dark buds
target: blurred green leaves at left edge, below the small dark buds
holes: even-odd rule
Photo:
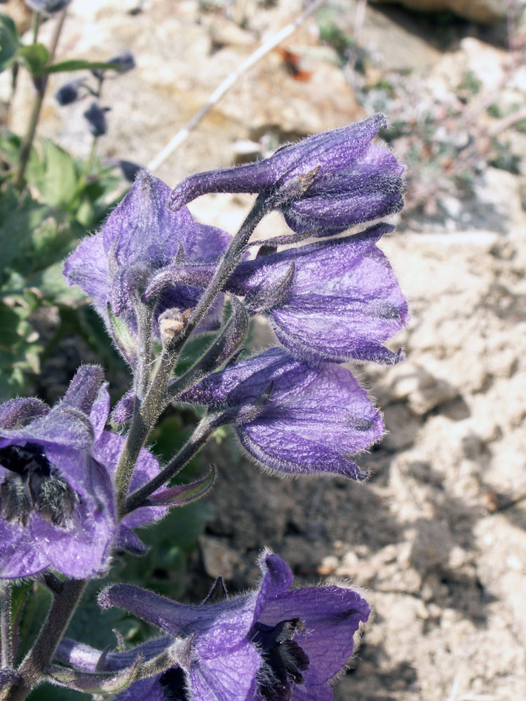
[[[15,168],[20,137],[1,135],[0,154]],[[50,350],[39,341],[32,323],[39,310],[48,306],[60,313],[62,329],[50,343],[70,330],[71,306],[85,297],[68,287],[62,261],[87,229],[106,217],[115,202],[109,193],[119,183],[112,170],[97,164],[88,176],[83,163],[48,139],[32,148],[26,177],[37,198],[18,192],[6,177],[0,183],[0,400],[25,393],[28,376],[39,372],[41,355]],[[115,365],[104,330],[95,340],[88,317],[86,312],[79,314],[76,330],[80,326],[97,353],[109,356],[109,365]]]

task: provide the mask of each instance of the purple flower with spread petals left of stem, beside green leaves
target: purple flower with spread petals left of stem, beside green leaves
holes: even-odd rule
[[[102,231],[83,240],[65,264],[69,284],[80,285],[91,295],[132,365],[137,352],[135,305],[151,275],[176,258],[191,264],[217,263],[231,239],[220,229],[194,222],[186,207],[171,211],[167,206],[169,196],[166,184],[140,172]],[[194,307],[200,296],[198,287],[171,285],[156,306],[156,318],[167,310]],[[200,331],[218,327],[221,308],[222,299],[217,299],[201,322]],[[154,333],[159,336],[158,323]]]

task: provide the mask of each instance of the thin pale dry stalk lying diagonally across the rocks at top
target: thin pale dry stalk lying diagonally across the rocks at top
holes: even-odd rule
[[[175,149],[180,147],[182,142],[184,142],[191,130],[196,128],[198,123],[203,119],[203,117],[208,114],[210,109],[214,107],[217,102],[221,100],[223,95],[227,93],[228,90],[234,84],[238,79],[248,71],[249,68],[252,68],[253,65],[255,65],[264,55],[267,55],[269,51],[271,51],[273,48],[276,48],[279,43],[281,43],[284,39],[287,39],[288,36],[293,34],[298,27],[300,27],[303,22],[311,15],[314,11],[316,11],[319,7],[321,7],[324,4],[325,0],[314,0],[303,12],[299,17],[297,17],[295,20],[290,22],[286,27],[283,27],[281,29],[281,32],[278,32],[275,36],[271,36],[267,41],[262,43],[259,48],[257,48],[254,53],[250,54],[248,58],[246,58],[241,64],[238,65],[238,67],[227,76],[224,81],[220,84],[220,86],[217,86],[217,88],[214,90],[212,95],[208,98],[208,100],[203,104],[203,107],[201,109],[198,109],[196,111],[196,114],[191,117],[191,119],[187,122],[186,125],[182,129],[180,129],[175,136],[170,139],[168,144],[159,151],[159,154],[155,156],[155,158],[152,158],[152,160],[148,163],[147,165],[147,170],[150,172],[154,172],[154,170],[157,170],[165,161],[167,158],[169,158]]]

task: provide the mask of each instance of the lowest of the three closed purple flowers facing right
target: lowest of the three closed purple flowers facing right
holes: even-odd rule
[[[278,472],[364,479],[350,456],[384,434],[349,370],[310,367],[280,348],[215,372],[179,398],[225,411],[248,453]]]

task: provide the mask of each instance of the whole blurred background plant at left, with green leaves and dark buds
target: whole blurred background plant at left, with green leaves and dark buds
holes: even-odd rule
[[[49,19],[56,22],[49,49],[38,41],[41,21],[46,19],[42,13],[34,12],[31,43],[22,40],[11,17],[0,14],[0,70],[11,72],[12,93],[0,133],[1,400],[38,388],[42,358],[66,334],[81,336],[110,370],[121,365],[83,296],[65,283],[62,261],[126,193],[125,178],[133,182],[135,164],[103,163],[95,154],[97,139],[107,130],[108,108],[99,104],[104,80],[108,74],[133,69],[135,63],[132,55],[109,62],[53,62],[66,11]],[[48,76],[81,69],[86,78],[65,83],[55,98],[61,105],[86,95],[95,98],[84,114],[93,135],[86,161],[37,135]],[[11,114],[20,70],[29,73],[34,86],[23,137],[9,128],[12,123],[20,125]],[[56,396],[51,393],[46,399],[53,402]]]

